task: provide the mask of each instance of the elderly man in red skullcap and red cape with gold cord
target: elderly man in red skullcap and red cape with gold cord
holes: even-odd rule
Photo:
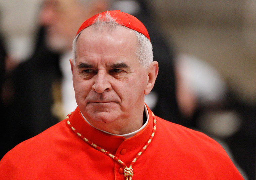
[[[0,178],[242,180],[217,142],[144,104],[158,74],[152,54],[135,17],[109,11],[86,20],[70,59],[78,107],[9,151]]]

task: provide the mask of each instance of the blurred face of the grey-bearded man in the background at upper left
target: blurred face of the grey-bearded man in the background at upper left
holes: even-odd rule
[[[46,27],[46,43],[58,52],[71,50],[72,40],[84,19],[91,15],[77,0],[46,0],[40,24]]]

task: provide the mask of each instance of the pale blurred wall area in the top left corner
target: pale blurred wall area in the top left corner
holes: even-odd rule
[[[37,13],[42,0],[0,0],[0,32],[15,59],[24,59],[33,50]]]

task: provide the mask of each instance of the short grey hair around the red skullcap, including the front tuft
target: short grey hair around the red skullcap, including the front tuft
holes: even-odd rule
[[[122,26],[118,23],[116,23],[115,19],[113,19],[108,13],[106,13],[105,18],[101,17],[101,14],[98,16],[98,18],[95,20],[95,22],[92,24],[95,30],[102,30],[102,28],[108,28],[109,31],[112,31],[116,28],[116,26]],[[123,26],[125,27],[125,26]],[[125,27],[127,28],[127,27]],[[139,63],[144,67],[148,68],[150,63],[153,61],[153,48],[150,40],[143,34],[132,30],[130,28],[127,28],[135,33],[137,38],[137,49],[136,49],[136,56],[138,58]],[[82,32],[82,31],[81,31]],[[72,56],[73,60],[76,61],[77,57],[77,40],[80,36],[80,33],[78,33],[73,40],[73,48],[72,48]]]

